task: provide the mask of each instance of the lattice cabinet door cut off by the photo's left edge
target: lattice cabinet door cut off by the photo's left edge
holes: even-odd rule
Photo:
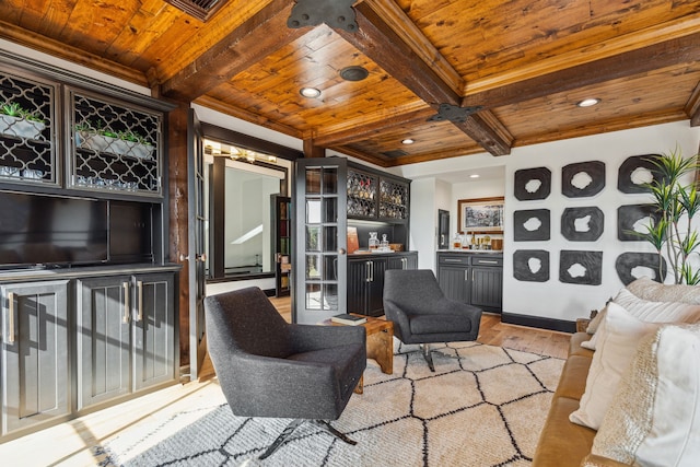
[[[0,183],[56,186],[57,84],[0,71]]]

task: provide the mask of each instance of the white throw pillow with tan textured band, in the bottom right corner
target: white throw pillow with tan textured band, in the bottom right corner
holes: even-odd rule
[[[639,466],[700,463],[700,325],[663,326],[640,342],[592,453]]]

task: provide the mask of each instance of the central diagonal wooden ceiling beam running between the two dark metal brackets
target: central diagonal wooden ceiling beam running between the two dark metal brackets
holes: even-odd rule
[[[410,34],[411,44],[408,44],[405,40],[406,34],[401,37],[396,33],[410,23],[409,19],[402,17],[405,13],[398,13],[396,9],[377,8],[380,12],[390,11],[389,17],[383,17],[372,7],[373,2],[386,7],[383,0],[365,0],[355,7],[359,31],[336,32],[433,108],[436,109],[440,104],[459,106],[459,94],[435,72],[432,63],[424,61],[425,50],[433,48],[430,42],[416,28]],[[400,24],[396,24],[397,22]],[[417,44],[421,44],[418,51]],[[440,55],[434,48],[433,50],[435,57]],[[472,115],[467,121],[456,126],[491,154],[509,154],[512,139],[503,138],[504,127],[500,124],[499,128],[488,127],[487,120],[498,121],[493,116],[477,118]]]

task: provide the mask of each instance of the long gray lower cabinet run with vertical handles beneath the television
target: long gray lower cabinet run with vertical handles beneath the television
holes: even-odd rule
[[[179,267],[121,269],[0,278],[0,442],[177,383]]]

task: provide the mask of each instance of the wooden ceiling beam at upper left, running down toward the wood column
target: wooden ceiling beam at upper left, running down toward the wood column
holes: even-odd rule
[[[272,0],[162,84],[166,97],[194,101],[306,33],[287,27],[294,2]]]

